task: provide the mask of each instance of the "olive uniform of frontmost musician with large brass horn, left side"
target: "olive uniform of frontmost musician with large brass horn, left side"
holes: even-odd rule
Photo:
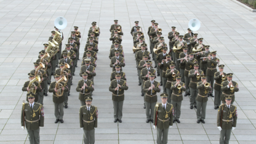
[[[56,119],[63,119],[64,116],[64,111],[63,111],[63,105],[64,105],[64,100],[66,97],[66,92],[68,92],[68,86],[66,86],[66,83],[64,82],[60,82],[60,84],[62,84],[63,87],[65,87],[65,89],[63,90],[63,95],[56,95],[55,92],[55,84],[56,82],[52,82],[50,83],[50,87],[49,87],[49,92],[52,92],[52,101],[54,102],[54,114],[55,114],[55,118]]]

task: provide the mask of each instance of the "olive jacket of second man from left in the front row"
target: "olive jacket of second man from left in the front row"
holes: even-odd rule
[[[79,110],[80,127],[84,130],[93,130],[98,125],[98,108],[90,105],[90,111],[87,110],[87,106],[81,106]]]

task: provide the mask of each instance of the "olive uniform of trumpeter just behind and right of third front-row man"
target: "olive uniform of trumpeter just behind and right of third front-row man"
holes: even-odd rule
[[[172,97],[170,98],[172,99],[172,105],[174,106],[174,120],[178,120],[180,119],[180,108],[182,107],[182,92],[186,90],[186,87],[184,82],[180,82],[180,86],[182,86],[181,89],[178,89],[178,86],[175,86],[175,84],[177,84],[177,82],[172,82],[172,87],[170,87],[172,90]]]

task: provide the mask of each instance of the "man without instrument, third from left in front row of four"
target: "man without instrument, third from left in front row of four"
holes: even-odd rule
[[[174,116],[174,106],[167,103],[168,95],[166,93],[163,93],[160,96],[162,103],[158,103],[156,106],[154,106],[153,127],[154,129],[157,127],[156,143],[167,144],[169,127],[172,127],[173,125],[172,119]]]

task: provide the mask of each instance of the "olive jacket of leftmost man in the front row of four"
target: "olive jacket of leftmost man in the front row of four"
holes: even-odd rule
[[[25,116],[25,118],[24,118]],[[39,127],[44,127],[44,110],[40,103],[34,102],[33,108],[31,110],[30,103],[25,103],[24,106],[22,106],[22,126],[23,119],[25,120],[26,129],[28,130],[36,130],[39,129]],[[39,119],[39,121],[37,121]],[[27,120],[27,121],[26,121]],[[36,122],[28,122],[28,121],[36,121]]]

